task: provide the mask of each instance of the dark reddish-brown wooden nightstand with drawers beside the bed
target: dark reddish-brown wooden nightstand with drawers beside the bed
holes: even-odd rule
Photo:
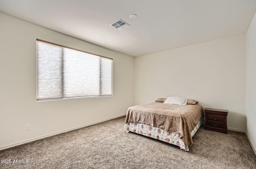
[[[205,108],[205,128],[228,134],[227,116],[228,110]]]

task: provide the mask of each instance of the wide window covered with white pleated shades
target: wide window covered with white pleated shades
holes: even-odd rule
[[[36,100],[112,96],[113,59],[36,39]]]

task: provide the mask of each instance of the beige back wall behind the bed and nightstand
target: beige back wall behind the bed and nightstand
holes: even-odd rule
[[[228,128],[245,131],[246,35],[136,57],[134,104],[182,96],[227,109]]]

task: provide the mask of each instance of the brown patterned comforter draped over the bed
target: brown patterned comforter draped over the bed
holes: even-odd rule
[[[181,140],[188,147],[192,145],[192,130],[204,115],[202,106],[175,105],[152,102],[128,108],[126,122],[147,124],[167,132],[180,133]]]

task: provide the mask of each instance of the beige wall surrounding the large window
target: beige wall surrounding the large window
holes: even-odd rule
[[[0,23],[0,149],[121,116],[133,105],[133,57],[2,13]],[[114,96],[36,102],[37,38],[113,58]]]

